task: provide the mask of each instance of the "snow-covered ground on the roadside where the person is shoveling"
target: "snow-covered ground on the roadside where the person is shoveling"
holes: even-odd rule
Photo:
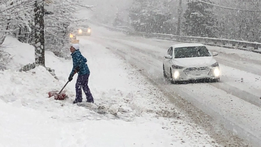
[[[47,92],[66,83],[72,60],[46,51],[45,65],[55,69],[59,80],[44,67],[19,72],[22,65],[34,62],[33,46],[11,37],[4,44],[13,59],[10,69],[0,71],[0,146],[222,146],[204,129],[187,122],[135,66],[104,46],[80,39],[95,101],[85,108],[72,104],[76,76],[65,88],[69,99],[47,98]]]

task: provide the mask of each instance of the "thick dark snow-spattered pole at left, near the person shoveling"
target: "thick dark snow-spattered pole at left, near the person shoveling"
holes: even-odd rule
[[[35,63],[45,67],[44,50],[44,0],[34,3]]]

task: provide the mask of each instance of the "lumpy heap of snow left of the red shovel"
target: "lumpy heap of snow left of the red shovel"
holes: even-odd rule
[[[0,71],[0,75],[0,81],[3,83],[0,95],[2,100],[9,102],[18,99],[27,99],[28,102],[43,101],[48,97],[47,93],[50,90],[61,87],[61,84],[42,66],[26,72],[8,69]]]

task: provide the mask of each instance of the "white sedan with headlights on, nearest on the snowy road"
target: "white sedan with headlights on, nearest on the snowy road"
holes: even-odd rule
[[[172,45],[163,60],[163,76],[171,83],[209,79],[219,81],[219,64],[213,54],[201,43]]]

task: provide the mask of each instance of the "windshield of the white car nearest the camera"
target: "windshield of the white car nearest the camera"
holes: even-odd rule
[[[205,46],[191,46],[174,49],[174,58],[209,57],[209,51]]]

